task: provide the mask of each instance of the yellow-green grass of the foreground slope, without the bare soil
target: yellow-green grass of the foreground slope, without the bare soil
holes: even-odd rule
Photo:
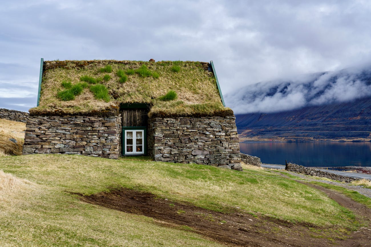
[[[80,200],[81,195],[119,188],[152,193],[170,206],[183,203],[250,215],[255,222],[264,218],[266,224],[278,219],[283,225],[317,227],[329,238],[359,226],[351,211],[324,193],[254,167],[234,171],[154,162],[145,157],[108,160],[40,154],[0,157],[0,170],[0,243],[4,245],[220,245],[191,227],[169,227],[154,218]],[[276,234],[276,228],[261,234]],[[321,234],[318,236],[323,237]]]

